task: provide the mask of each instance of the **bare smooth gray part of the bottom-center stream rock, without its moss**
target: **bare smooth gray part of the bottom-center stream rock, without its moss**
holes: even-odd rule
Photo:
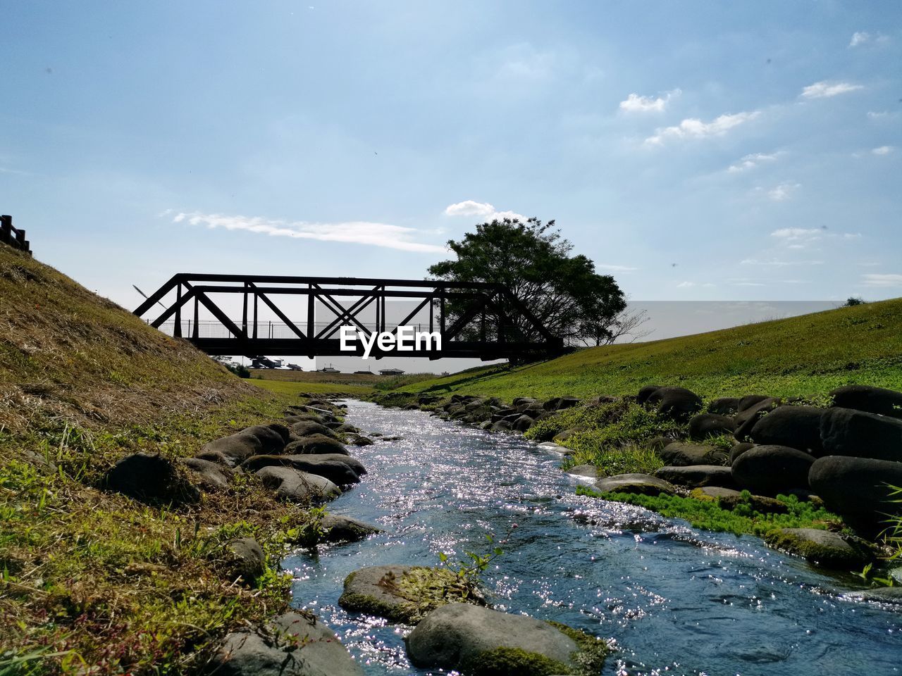
[[[545,622],[465,603],[433,610],[405,643],[415,666],[464,672],[477,667],[483,653],[502,647],[539,653],[574,669],[578,651],[573,639]]]

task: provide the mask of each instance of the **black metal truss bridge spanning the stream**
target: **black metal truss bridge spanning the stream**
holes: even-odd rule
[[[391,320],[388,310],[398,308],[388,307],[388,300],[405,302],[403,312],[395,312]],[[240,313],[240,319],[229,311]],[[407,352],[373,344],[376,359],[530,361],[556,356],[564,347],[508,288],[489,283],[182,273],[147,297],[134,314],[213,355],[363,356],[360,341],[354,341],[354,351],[341,349],[345,325],[367,337],[397,336],[400,326],[410,325],[441,337],[440,350],[425,342]]]

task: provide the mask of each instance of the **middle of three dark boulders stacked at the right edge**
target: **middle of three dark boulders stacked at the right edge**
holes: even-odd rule
[[[902,420],[851,408],[829,408],[821,416],[824,455],[902,461]]]

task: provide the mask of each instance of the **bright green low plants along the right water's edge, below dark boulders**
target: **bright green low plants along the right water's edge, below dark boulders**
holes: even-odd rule
[[[839,516],[810,502],[801,502],[796,496],[780,495],[777,499],[787,506],[786,514],[762,514],[748,503],[748,491],[743,491],[746,501],[735,508],[723,509],[718,500],[697,500],[680,496],[658,497],[630,495],[628,493],[600,493],[579,486],[577,494],[603,498],[651,509],[671,518],[686,519],[695,528],[718,533],[764,535],[775,528],[827,528],[842,525]]]

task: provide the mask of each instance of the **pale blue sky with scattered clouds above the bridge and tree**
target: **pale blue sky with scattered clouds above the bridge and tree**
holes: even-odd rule
[[[130,308],[498,213],[634,299],[902,296],[896,2],[0,2],[0,211]]]

